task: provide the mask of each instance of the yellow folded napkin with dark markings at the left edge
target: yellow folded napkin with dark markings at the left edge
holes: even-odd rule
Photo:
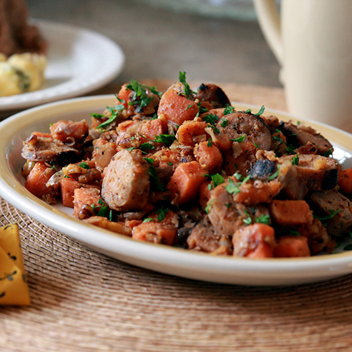
[[[30,305],[29,288],[15,223],[0,228],[0,305]]]

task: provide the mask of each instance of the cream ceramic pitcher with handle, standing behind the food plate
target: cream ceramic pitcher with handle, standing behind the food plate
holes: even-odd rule
[[[254,0],[293,114],[352,123],[352,0]],[[350,124],[351,124],[350,123]]]

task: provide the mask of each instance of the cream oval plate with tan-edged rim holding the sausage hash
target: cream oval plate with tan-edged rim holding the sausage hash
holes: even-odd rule
[[[163,244],[139,242],[79,221],[71,215],[71,209],[47,205],[29,193],[23,186],[24,179],[20,174],[24,163],[20,156],[22,141],[33,131],[49,132],[50,123],[59,119],[87,119],[90,122],[91,112],[101,113],[114,102],[113,95],[73,98],[31,108],[1,122],[0,196],[30,217],[87,247],[132,265],[179,277],[225,284],[277,286],[323,281],[352,272],[352,251],[343,252],[343,249],[342,253],[311,258],[255,260],[212,256]],[[237,110],[259,110],[259,107],[242,103],[233,103],[233,106]],[[284,121],[297,121],[295,117],[276,110],[267,109],[265,115],[277,115]],[[306,124],[334,143],[334,156],[341,160],[344,167],[352,166],[352,135],[316,122],[306,121]]]

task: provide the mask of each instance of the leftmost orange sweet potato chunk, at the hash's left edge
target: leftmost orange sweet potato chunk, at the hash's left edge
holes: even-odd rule
[[[24,186],[38,198],[43,198],[43,196],[56,197],[59,194],[59,186],[46,186],[47,181],[54,173],[55,171],[52,168],[48,168],[45,163],[39,161],[31,169]]]

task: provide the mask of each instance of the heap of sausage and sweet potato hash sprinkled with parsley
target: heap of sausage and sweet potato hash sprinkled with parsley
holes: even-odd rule
[[[131,81],[91,124],[24,141],[26,188],[135,240],[224,256],[311,256],[352,226],[352,169],[303,124],[237,111],[185,73],[163,94]]]

